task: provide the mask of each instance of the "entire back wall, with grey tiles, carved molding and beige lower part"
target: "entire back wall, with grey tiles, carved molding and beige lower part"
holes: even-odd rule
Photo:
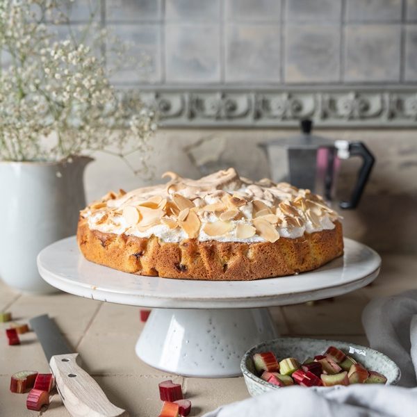
[[[150,182],[165,170],[199,177],[229,166],[266,177],[256,143],[291,136],[288,128],[311,117],[327,127],[316,133],[363,140],[377,157],[359,208],[342,213],[346,236],[382,252],[417,252],[417,0],[71,4],[75,27],[97,9],[97,22],[129,42],[131,56],[147,57],[142,67],[126,60],[113,81],[140,88],[161,113]],[[103,51],[111,68],[110,45]],[[358,164],[343,162],[339,199]],[[88,199],[149,183],[103,155],[86,181]]]

